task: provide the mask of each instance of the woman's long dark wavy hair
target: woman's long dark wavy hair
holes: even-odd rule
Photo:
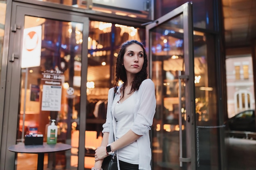
[[[117,92],[117,86],[118,86],[119,80],[124,82],[123,87],[126,87],[126,85],[127,85],[126,69],[124,68],[124,65],[122,65],[122,64],[124,63],[124,54],[126,52],[126,47],[131,44],[138,44],[139,46],[141,46],[141,48],[143,49],[144,63],[143,63],[141,71],[139,73],[137,73],[135,75],[134,79],[132,80],[132,87],[131,87],[130,93],[132,93],[133,91],[137,91],[139,89],[141,82],[148,77],[148,73],[147,73],[148,58],[147,58],[146,50],[145,50],[143,44],[141,42],[138,42],[137,40],[128,40],[128,41],[124,42],[123,44],[121,44],[120,51],[117,56],[116,75],[115,75],[115,83],[114,83],[115,93]],[[122,88],[121,90],[122,90],[123,96],[124,96],[124,88]]]

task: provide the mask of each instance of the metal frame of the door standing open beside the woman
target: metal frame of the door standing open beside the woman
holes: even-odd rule
[[[195,83],[194,83],[194,51],[193,51],[193,13],[192,2],[177,7],[173,11],[158,18],[146,26],[146,49],[150,61],[149,64],[149,77],[152,78],[152,54],[150,53],[151,37],[150,29],[183,14],[184,26],[184,64],[185,73],[179,79],[184,79],[186,82],[186,152],[187,158],[180,157],[180,162],[187,162],[188,170],[196,170],[196,127],[195,127]],[[189,114],[188,114],[189,113]],[[190,121],[188,121],[190,119]]]

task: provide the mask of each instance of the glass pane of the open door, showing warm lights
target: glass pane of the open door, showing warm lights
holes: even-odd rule
[[[182,155],[186,157],[186,84],[178,79],[184,74],[183,15],[150,31],[152,51],[152,80],[155,83],[157,108],[153,125],[153,169],[185,170],[180,167],[180,139]],[[181,110],[180,110],[181,109]],[[179,126],[179,114],[181,122]]]

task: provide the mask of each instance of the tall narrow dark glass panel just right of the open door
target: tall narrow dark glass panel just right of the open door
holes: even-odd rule
[[[218,169],[219,139],[214,36],[194,32],[195,114],[198,170]]]

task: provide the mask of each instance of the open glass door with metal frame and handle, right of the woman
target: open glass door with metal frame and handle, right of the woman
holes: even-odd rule
[[[146,26],[150,78],[157,108],[152,128],[153,170],[195,170],[195,84],[192,4]]]

